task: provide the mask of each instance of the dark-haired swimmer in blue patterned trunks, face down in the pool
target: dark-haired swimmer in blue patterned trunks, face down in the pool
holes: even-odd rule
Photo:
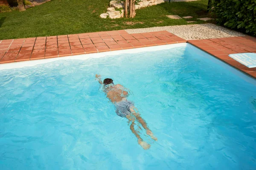
[[[143,149],[149,149],[150,144],[146,143],[142,140],[140,135],[134,129],[135,119],[143,126],[146,130],[146,133],[151,136],[152,139],[157,140],[157,138],[153,135],[151,130],[148,128],[146,122],[140,116],[140,113],[137,111],[137,108],[134,107],[134,102],[126,99],[128,97],[128,91],[122,85],[114,85],[112,79],[104,79],[103,83],[101,81],[101,76],[96,74],[96,79],[99,81],[101,85],[103,85],[103,91],[107,95],[108,99],[115,105],[116,114],[121,117],[126,117],[129,121],[131,121],[130,129],[132,133],[137,137],[138,144],[140,144]]]

